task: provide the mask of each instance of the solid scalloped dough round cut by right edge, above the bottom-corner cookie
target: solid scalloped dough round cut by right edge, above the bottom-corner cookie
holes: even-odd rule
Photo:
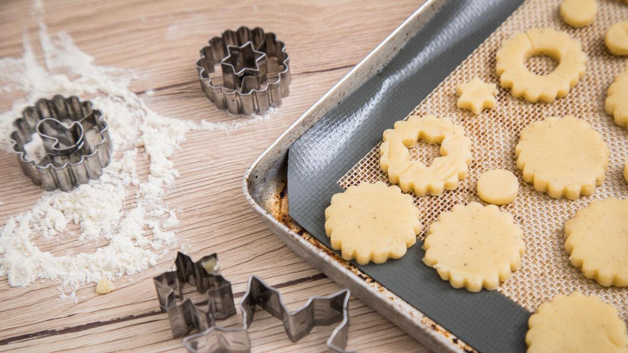
[[[628,200],[593,201],[565,223],[571,264],[603,286],[628,286]]]

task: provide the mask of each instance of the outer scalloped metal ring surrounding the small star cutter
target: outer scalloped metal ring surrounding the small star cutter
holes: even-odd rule
[[[229,83],[230,73],[225,75],[222,61],[229,57],[229,46],[241,48],[246,46],[249,41],[253,50],[265,54],[266,62],[270,58],[275,58],[277,64],[281,67],[281,72],[278,73],[276,80],[270,82],[260,80],[259,88],[252,87],[255,86],[252,84],[257,82],[247,81],[243,87],[244,89],[242,89],[241,85],[242,90],[238,90],[232,88],[237,87],[237,85]],[[201,88],[207,95],[207,99],[214,102],[219,109],[227,109],[232,114],[250,115],[255,112],[268,111],[271,107],[280,106],[281,99],[290,93],[288,89],[288,85],[290,85],[290,67],[288,65],[290,58],[288,53],[286,53],[285,47],[286,45],[283,41],[278,41],[274,33],[265,33],[259,27],[251,29],[242,26],[235,31],[227,30],[222,32],[220,36],[210,38],[208,45],[203,46],[200,50],[200,58],[196,62],[198,80]],[[209,73],[215,70],[215,63],[221,63],[223,85],[212,83],[209,77]],[[257,79],[247,78],[246,80]],[[229,87],[229,85],[232,87]]]

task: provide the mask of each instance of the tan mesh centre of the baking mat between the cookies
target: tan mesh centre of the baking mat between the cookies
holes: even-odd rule
[[[475,185],[482,171],[506,168],[519,178],[519,196],[512,204],[501,206],[501,209],[510,212],[521,225],[526,254],[522,258],[521,268],[497,290],[530,311],[558,293],[581,291],[588,295],[595,294],[612,303],[622,318],[628,320],[628,288],[604,287],[594,280],[588,280],[578,268],[571,266],[563,245],[564,224],[578,209],[592,200],[628,197],[628,184],[622,175],[624,161],[628,156],[628,132],[614,124],[612,117],[604,111],[609,85],[628,64],[628,58],[615,57],[609,53],[604,45],[604,36],[612,24],[628,19],[628,4],[600,0],[595,21],[585,28],[572,28],[560,19],[558,3],[551,0],[526,1],[411,113],[449,117],[456,124],[461,124],[472,140],[474,154],[468,178],[462,180],[455,190],[446,190],[440,196],[414,196],[414,204],[421,210],[421,220],[425,225],[420,238],[425,237],[428,226],[441,212],[452,209],[456,204],[480,201]],[[455,86],[476,76],[485,82],[498,83],[495,53],[502,41],[514,33],[534,27],[566,31],[572,38],[582,42],[588,57],[587,72],[571,92],[553,103],[533,104],[512,97],[509,90],[498,84],[497,107],[494,109],[485,110],[479,116],[458,109]],[[551,70],[551,63],[537,57],[530,58],[526,65],[536,73]],[[514,156],[521,129],[533,121],[565,115],[590,122],[610,148],[610,165],[605,182],[596,188],[593,195],[573,201],[565,198],[557,200],[536,192],[531,184],[522,181]],[[414,158],[426,161],[436,155],[436,149],[433,145],[419,143],[411,154]],[[379,168],[379,144],[340,179],[340,184],[346,188],[360,182],[377,180],[387,182],[386,173]]]

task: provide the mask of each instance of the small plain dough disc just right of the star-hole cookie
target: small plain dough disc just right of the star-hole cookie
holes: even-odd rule
[[[477,179],[477,194],[489,204],[510,204],[519,194],[519,182],[509,170],[485,171]]]

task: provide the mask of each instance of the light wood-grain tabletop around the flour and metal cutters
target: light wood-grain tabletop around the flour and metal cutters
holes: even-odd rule
[[[227,1],[227,0],[45,0],[48,31],[67,31],[99,65],[138,73],[132,87],[164,116],[198,121],[237,119],[208,103],[193,63],[210,36],[242,24],[278,34],[290,53],[292,83],[279,114],[232,133],[197,131],[173,157],[181,176],[166,198],[180,209],[176,228],[192,256],[218,252],[224,274],[238,297],[251,274],[281,288],[289,307],[311,295],[340,289],[293,253],[264,226],[241,191],[244,170],[296,117],[377,45],[421,1]],[[0,4],[0,57],[20,57],[22,33],[36,38],[33,4]],[[146,94],[154,90],[154,94]],[[152,93],[152,92],[151,92]],[[0,95],[0,111],[19,98]],[[2,131],[5,134],[8,131]],[[140,168],[146,173],[146,165]],[[22,175],[8,151],[0,151],[0,225],[30,209],[42,190]],[[67,248],[80,244],[68,240]],[[89,247],[88,247],[89,248]],[[60,249],[51,249],[61,251]],[[173,249],[176,250],[176,249]],[[151,278],[172,266],[158,266],[116,281],[117,290],[96,295],[93,284],[77,291],[78,303],[59,303],[55,281],[11,288],[0,279],[0,350],[95,352],[142,350],[183,352],[172,339],[166,315],[157,307]],[[200,296],[198,297],[200,298]],[[352,298],[349,349],[360,352],[426,352],[393,324]],[[239,317],[227,320],[236,325]],[[258,312],[252,325],[255,352],[323,352],[333,327],[318,327],[291,344],[281,322]]]

